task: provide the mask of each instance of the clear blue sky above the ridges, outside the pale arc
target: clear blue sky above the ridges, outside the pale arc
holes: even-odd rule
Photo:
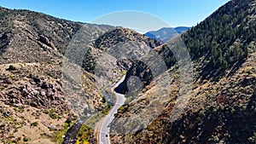
[[[58,18],[91,22],[123,10],[154,14],[170,26],[195,26],[229,0],[1,0],[9,9],[30,9]]]

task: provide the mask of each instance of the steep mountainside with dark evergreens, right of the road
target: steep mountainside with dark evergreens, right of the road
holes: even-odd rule
[[[255,5],[254,0],[230,1],[179,36],[189,49],[194,78],[189,102],[174,120],[181,85],[170,49],[180,45],[169,44],[176,37],[156,48],[168,70],[148,79],[137,98],[119,108],[111,127],[113,143],[255,143]],[[168,77],[166,97],[155,84]],[[158,98],[164,102],[152,103]],[[149,124],[148,115],[154,116]]]

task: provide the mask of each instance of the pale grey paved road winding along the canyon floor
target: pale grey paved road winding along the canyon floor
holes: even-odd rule
[[[113,88],[117,87],[120,83],[122,83],[125,79],[125,76],[119,80],[117,84],[114,85]],[[113,91],[114,92],[114,91]],[[118,108],[121,107],[122,105],[125,104],[125,95],[121,95],[119,93],[115,93],[116,95],[116,102],[111,109],[111,111],[108,113],[108,115],[103,119],[102,125],[100,127],[100,132],[99,132],[99,143],[100,144],[110,144],[110,139],[109,139],[109,124],[113,121],[114,114],[118,112]]]

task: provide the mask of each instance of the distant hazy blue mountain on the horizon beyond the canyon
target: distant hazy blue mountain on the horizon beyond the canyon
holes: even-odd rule
[[[186,26],[179,26],[179,27],[164,27],[161,28],[158,31],[150,31],[145,33],[147,37],[151,37],[153,39],[160,39],[164,43],[167,41],[171,40],[172,37],[176,37],[177,35],[187,32],[191,27],[186,27]]]

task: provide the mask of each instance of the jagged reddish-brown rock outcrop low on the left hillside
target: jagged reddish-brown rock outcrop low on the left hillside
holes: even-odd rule
[[[60,85],[55,86],[61,87]],[[65,97],[63,97],[63,91],[56,90],[55,86],[48,83],[47,79],[41,80],[41,78],[31,76],[28,84],[22,85],[16,89],[6,89],[5,93],[3,93],[5,96],[3,99],[5,99],[6,104],[13,106],[21,104],[38,108],[56,107],[67,111],[67,105],[61,106],[67,103]]]

